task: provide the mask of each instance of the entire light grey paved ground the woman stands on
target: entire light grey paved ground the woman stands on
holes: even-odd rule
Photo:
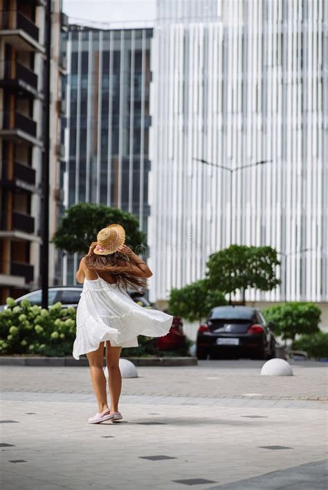
[[[123,379],[124,420],[98,425],[88,368],[3,366],[1,490],[321,489],[302,465],[325,482],[327,368],[286,379],[260,365],[139,368]]]

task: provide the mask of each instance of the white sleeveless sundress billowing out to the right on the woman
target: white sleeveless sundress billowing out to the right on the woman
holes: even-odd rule
[[[138,347],[137,335],[161,337],[170,331],[172,315],[138,305],[124,285],[98,279],[84,279],[76,312],[73,357],[97,350],[100,342],[111,346]]]

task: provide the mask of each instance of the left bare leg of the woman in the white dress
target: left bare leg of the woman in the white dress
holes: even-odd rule
[[[86,357],[89,361],[91,381],[93,384],[93,391],[97,398],[99,411],[104,411],[108,408],[107,405],[107,389],[106,389],[106,376],[102,369],[102,363],[104,359],[104,342],[100,342],[97,350],[88,352]]]

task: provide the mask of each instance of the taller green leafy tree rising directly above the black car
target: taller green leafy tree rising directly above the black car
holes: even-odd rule
[[[271,291],[280,284],[275,274],[279,264],[277,251],[272,247],[230,245],[210,255],[206,275],[212,289],[226,293],[242,290],[245,303],[247,288]]]

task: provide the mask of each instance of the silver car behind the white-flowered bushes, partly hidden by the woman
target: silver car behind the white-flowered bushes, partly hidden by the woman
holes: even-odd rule
[[[60,301],[63,308],[68,308],[72,306],[73,308],[78,308],[78,302],[80,301],[80,296],[82,292],[82,285],[77,286],[56,286],[49,288],[48,290],[48,305],[53,305]],[[145,308],[150,308],[149,301],[145,298],[145,293],[143,291],[128,291],[131,298],[136,301],[136,303],[141,303]],[[17,305],[22,299],[28,299],[31,305],[41,306],[42,303],[42,290],[36,290],[24,294],[15,299]],[[7,305],[0,306],[0,311],[8,308]]]

